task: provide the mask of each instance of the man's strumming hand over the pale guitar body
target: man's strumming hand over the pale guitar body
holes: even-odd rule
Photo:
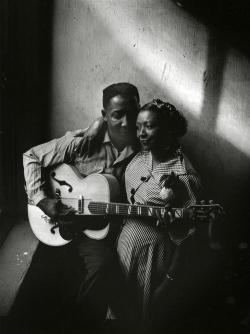
[[[73,218],[75,210],[63,204],[60,200],[55,198],[43,198],[37,206],[50,218],[63,218],[70,220]]]

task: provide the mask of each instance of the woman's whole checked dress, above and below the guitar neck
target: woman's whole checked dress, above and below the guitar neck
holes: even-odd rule
[[[162,189],[171,172],[178,178],[171,203],[181,208],[195,204],[199,199],[199,177],[181,149],[155,168],[150,152],[139,152],[133,158],[125,172],[129,202],[165,206],[168,199],[162,196]],[[138,320],[148,317],[152,293],[168,271],[174,248],[193,232],[193,228],[163,232],[145,218],[128,218],[124,222],[117,250]]]

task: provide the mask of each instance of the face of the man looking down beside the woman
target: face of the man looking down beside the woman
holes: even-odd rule
[[[107,122],[111,140],[123,143],[135,138],[138,111],[139,103],[135,96],[117,95],[110,99],[102,114]]]

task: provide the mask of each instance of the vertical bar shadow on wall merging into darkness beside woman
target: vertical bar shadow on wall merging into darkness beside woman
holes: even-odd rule
[[[250,158],[216,133],[227,50],[220,33],[211,31],[202,111],[199,120],[191,120],[187,150],[202,173],[208,196],[221,203],[234,219],[247,219]]]

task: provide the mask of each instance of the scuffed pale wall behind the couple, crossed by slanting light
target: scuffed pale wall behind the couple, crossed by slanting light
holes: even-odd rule
[[[246,211],[250,62],[172,1],[55,1],[51,137],[100,115],[103,87],[138,86],[189,121],[183,146],[211,198]],[[233,206],[232,206],[233,204]]]

